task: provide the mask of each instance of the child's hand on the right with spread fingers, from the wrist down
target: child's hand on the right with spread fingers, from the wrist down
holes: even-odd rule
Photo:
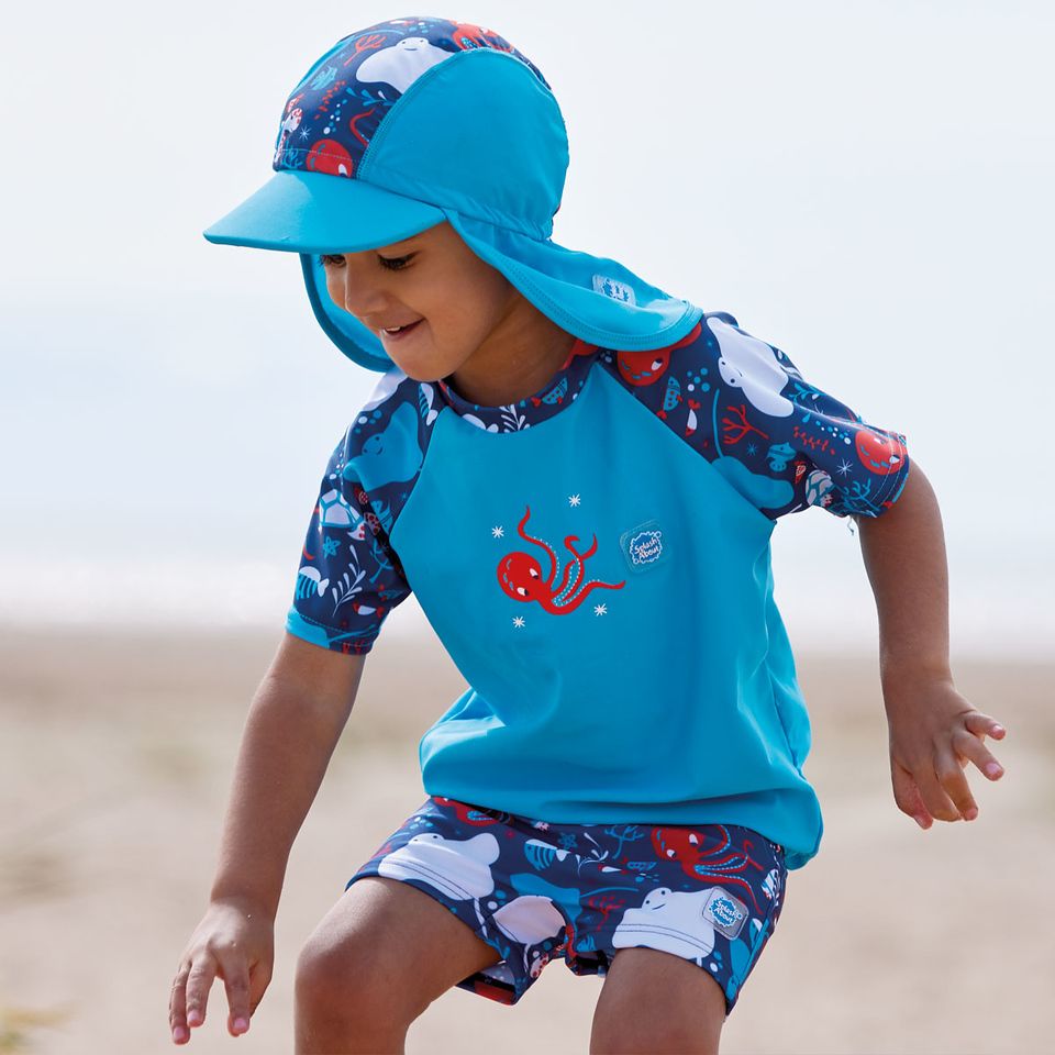
[[[941,821],[978,815],[967,775],[973,762],[989,780],[1003,767],[985,746],[1007,730],[975,710],[949,679],[914,680],[884,691],[890,728],[890,777],[898,809],[922,829]]]

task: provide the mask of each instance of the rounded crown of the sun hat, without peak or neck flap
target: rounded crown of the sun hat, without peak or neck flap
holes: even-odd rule
[[[503,37],[393,19],[314,63],[286,101],[271,166],[360,180],[547,238],[568,143],[549,85]]]

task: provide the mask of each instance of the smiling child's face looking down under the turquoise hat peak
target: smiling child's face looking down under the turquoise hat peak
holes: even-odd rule
[[[391,360],[418,381],[460,369],[526,306],[447,222],[402,242],[322,260],[333,302],[378,334]],[[402,325],[411,329],[386,332]]]

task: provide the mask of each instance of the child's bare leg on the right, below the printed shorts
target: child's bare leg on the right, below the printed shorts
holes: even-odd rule
[[[593,1011],[595,1055],[717,1055],[725,995],[701,967],[656,948],[621,948]]]

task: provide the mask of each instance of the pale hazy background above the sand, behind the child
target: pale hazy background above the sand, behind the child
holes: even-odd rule
[[[201,230],[270,176],[311,63],[408,13],[7,16],[0,619],[280,623],[326,457],[377,376],[322,334],[296,256]],[[906,433],[945,519],[954,647],[1050,642],[1050,5],[427,13],[497,30],[553,86],[571,151],[556,242],[732,312]],[[845,522],[784,519],[774,565],[793,643],[874,648]]]

